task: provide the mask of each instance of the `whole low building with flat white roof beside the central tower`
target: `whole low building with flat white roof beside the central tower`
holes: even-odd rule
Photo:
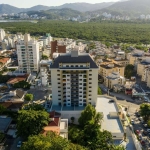
[[[114,140],[123,139],[125,131],[116,98],[104,95],[98,96],[96,111],[103,114],[101,129],[111,132]]]

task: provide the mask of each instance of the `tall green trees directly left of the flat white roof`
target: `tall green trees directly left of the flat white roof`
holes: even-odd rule
[[[115,150],[111,133],[101,131],[102,120],[103,115],[97,113],[92,105],[87,105],[78,119],[79,126],[74,125],[69,128],[69,139],[89,150]]]

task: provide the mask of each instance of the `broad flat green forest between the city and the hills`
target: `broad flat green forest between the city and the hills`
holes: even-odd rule
[[[28,32],[31,35],[51,33],[53,37],[97,40],[114,43],[150,43],[150,23],[101,21],[79,23],[71,21],[42,20],[38,23],[9,22],[0,23],[10,33]]]

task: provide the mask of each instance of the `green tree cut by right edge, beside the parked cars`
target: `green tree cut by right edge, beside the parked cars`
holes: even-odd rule
[[[150,104],[143,103],[140,105],[140,114],[144,117],[144,120],[148,120],[150,118]]]

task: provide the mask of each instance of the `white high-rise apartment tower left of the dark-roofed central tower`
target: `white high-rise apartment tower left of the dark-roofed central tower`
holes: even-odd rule
[[[31,73],[39,71],[39,43],[31,39],[30,34],[24,35],[24,40],[17,43],[19,71]]]

